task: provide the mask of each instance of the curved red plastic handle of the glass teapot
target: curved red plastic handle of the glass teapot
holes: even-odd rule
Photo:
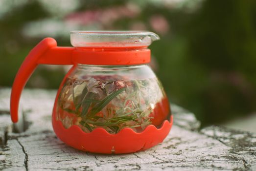
[[[57,47],[52,38],[45,38],[27,55],[21,65],[11,92],[10,113],[12,122],[18,122],[18,109],[22,90],[38,64],[73,64],[73,47]]]

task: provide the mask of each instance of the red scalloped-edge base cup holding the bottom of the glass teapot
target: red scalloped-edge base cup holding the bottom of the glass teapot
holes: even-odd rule
[[[56,121],[55,114],[53,114],[52,125],[56,135],[75,149],[118,154],[146,150],[163,142],[172,127],[172,116],[170,119],[170,122],[165,120],[159,129],[150,125],[140,133],[131,128],[124,128],[116,134],[110,134],[103,128],[95,128],[92,132],[86,133],[76,125],[66,129],[61,121]]]

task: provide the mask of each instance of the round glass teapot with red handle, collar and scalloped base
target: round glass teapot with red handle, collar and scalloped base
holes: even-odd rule
[[[63,142],[96,153],[130,153],[161,143],[172,115],[163,86],[147,65],[147,47],[158,39],[138,31],[72,31],[74,47],[44,39],[14,80],[12,121],[18,121],[21,92],[38,64],[72,64],[52,112],[53,129]]]

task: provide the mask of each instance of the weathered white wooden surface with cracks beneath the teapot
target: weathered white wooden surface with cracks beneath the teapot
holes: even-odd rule
[[[174,126],[152,149],[119,155],[72,149],[52,130],[55,93],[25,89],[20,116],[24,122],[13,126],[8,114],[10,89],[0,89],[0,170],[256,170],[256,134],[215,126],[199,130],[194,115],[174,105]]]

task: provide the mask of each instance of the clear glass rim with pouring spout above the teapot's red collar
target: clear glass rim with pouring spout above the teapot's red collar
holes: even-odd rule
[[[141,47],[149,46],[159,36],[147,31],[71,31],[74,47]]]

